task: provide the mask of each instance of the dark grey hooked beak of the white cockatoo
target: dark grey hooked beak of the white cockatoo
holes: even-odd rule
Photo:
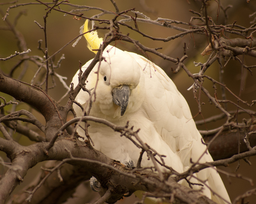
[[[121,85],[112,90],[113,102],[117,106],[121,106],[121,116],[124,115],[124,112],[127,108],[130,93],[131,90],[128,85]]]

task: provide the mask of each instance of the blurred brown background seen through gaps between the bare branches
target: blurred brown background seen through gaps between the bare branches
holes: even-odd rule
[[[6,0],[1,0],[0,4],[4,2],[9,2]],[[19,1],[18,3],[23,4],[30,1]],[[43,1],[46,2],[46,1]],[[115,11],[115,8],[111,4],[110,1],[106,0],[93,0],[93,1],[84,1],[84,0],[73,0],[70,1],[72,4],[84,4],[88,6],[95,6],[95,7],[101,7],[103,9],[109,10],[109,11]],[[217,10],[218,10],[218,3],[216,1],[208,2],[208,15],[213,18],[216,24],[224,24],[224,14],[222,11],[220,11],[218,16],[218,22],[216,22],[217,19]],[[172,20],[178,20],[178,21],[184,21],[189,22],[191,16],[195,16],[191,12],[189,12],[189,9],[200,12],[201,9],[201,1],[194,1],[194,0],[168,0],[168,1],[153,1],[153,0],[116,0],[116,4],[119,7],[119,10],[127,10],[131,8],[136,8],[136,11],[140,11],[150,17],[151,19],[155,20],[158,17],[161,18],[169,18]],[[235,20],[237,21],[238,25],[242,25],[244,27],[251,26],[250,21],[253,20],[253,18],[249,18],[249,14],[252,14],[254,11],[256,11],[256,2],[255,0],[251,0],[249,3],[246,3],[245,0],[223,0],[221,1],[221,4],[225,7],[228,4],[232,5],[233,7],[228,9],[228,24],[232,24]],[[2,13],[5,15],[5,11],[8,8],[8,5],[0,5],[0,8],[2,10]],[[37,49],[38,43],[37,41],[42,39],[44,40],[44,33],[42,29],[34,23],[34,21],[37,21],[40,25],[44,25],[43,16],[45,15],[45,6],[44,5],[28,5],[28,6],[21,6],[18,8],[11,9],[9,11],[9,16],[7,17],[8,21],[11,23],[14,21],[16,16],[19,14],[19,12],[23,12],[24,15],[22,15],[18,19],[18,23],[16,25],[16,29],[22,33],[24,36],[27,47],[32,50],[32,52],[29,53],[29,55],[39,55],[43,57],[43,53]],[[69,6],[61,5],[60,8],[65,11],[70,11],[72,8]],[[97,13],[98,11],[83,11],[84,16],[91,17]],[[134,15],[133,15],[134,16]],[[113,18],[113,16],[106,15],[103,18]],[[6,20],[7,20],[6,19]],[[49,49],[49,55],[52,55],[55,53],[58,49],[60,49],[62,46],[64,46],[68,41],[72,40],[79,34],[79,27],[83,25],[84,19],[76,20],[72,18],[72,16],[67,15],[64,16],[63,13],[52,11],[49,14],[49,17],[47,18],[47,37],[48,37],[48,49]],[[0,20],[0,28],[4,28],[6,25],[6,21]],[[89,23],[91,26],[91,24]],[[130,25],[133,25],[130,23]],[[183,28],[188,29],[188,27],[184,25],[177,25],[181,26]],[[180,33],[180,31],[159,27],[156,25],[150,25],[150,24],[143,24],[138,23],[138,27],[140,31],[147,33],[148,35],[154,36],[154,37],[162,37],[166,38],[168,36],[173,36],[177,33]],[[120,30],[122,33],[130,33],[130,37],[133,39],[139,40],[140,43],[144,44],[145,46],[148,46],[150,48],[155,47],[163,47],[162,50],[160,50],[165,55],[169,55],[173,58],[181,57],[183,55],[183,46],[184,42],[186,43],[186,46],[189,47],[187,49],[187,55],[188,59],[185,61],[186,66],[192,73],[198,73],[199,67],[195,67],[193,62],[206,62],[208,59],[208,56],[202,57],[200,53],[204,50],[204,48],[207,46],[207,38],[204,35],[197,35],[194,34],[194,39],[190,39],[190,35],[186,35],[183,38],[178,38],[175,40],[171,40],[167,43],[163,43],[160,41],[153,41],[150,39],[147,39],[145,37],[142,37],[140,34],[132,32],[131,30],[128,30],[127,28],[124,28],[120,26]],[[104,30],[98,31],[98,34],[100,37],[103,37]],[[225,34],[228,38],[234,38],[238,36],[232,36],[230,34]],[[195,47],[194,47],[195,43]],[[69,44],[67,47],[65,47],[59,54],[55,56],[55,61],[57,61],[60,56],[64,53],[65,59],[61,63],[61,67],[56,70],[56,72],[62,76],[67,77],[67,84],[71,82],[72,77],[76,73],[77,69],[79,68],[79,61],[84,64],[91,58],[93,58],[95,55],[94,53],[88,51],[86,47],[86,42],[84,39],[81,39],[76,47],[72,47],[71,44]],[[114,45],[114,44],[113,44]],[[44,41],[42,43],[42,47],[44,48]],[[127,42],[120,42],[118,43],[117,47],[127,50],[139,53],[136,48]],[[19,51],[17,47],[17,40],[14,37],[14,34],[11,31],[7,30],[0,30],[0,58],[7,57],[11,54],[14,54],[15,51]],[[22,50],[24,51],[24,50]],[[139,53],[140,54],[140,53]],[[176,68],[176,65],[169,62],[164,61],[162,58],[155,56],[153,54],[148,54],[150,59],[155,62],[157,65],[159,65],[161,68],[163,68],[166,73],[172,78],[176,86],[178,87],[179,91],[182,93],[182,95],[186,98],[188,101],[188,104],[191,108],[192,115],[195,116],[198,113],[198,105],[196,100],[194,99],[194,95],[192,90],[187,91],[187,89],[193,84],[193,80],[187,76],[184,70],[180,70],[178,74],[173,74],[171,71],[171,67]],[[17,63],[17,60],[19,59],[19,56],[16,58],[13,58],[12,60],[8,60],[6,62],[0,61],[0,68],[6,72],[9,73],[10,69],[13,65]],[[223,62],[223,61],[222,61]],[[255,65],[255,59],[252,57],[245,57],[244,62],[246,65]],[[32,77],[34,76],[37,66],[33,63],[29,63],[28,71],[26,72],[25,77],[23,77],[23,81],[30,83]],[[22,66],[14,73],[14,78],[19,77],[20,73],[22,72]],[[207,71],[205,74],[215,78],[216,80],[219,80],[219,70],[220,67],[215,62]],[[255,71],[253,70],[252,76],[247,71],[244,70],[244,79],[243,79],[243,92],[241,95],[241,98],[245,101],[248,101],[249,103],[252,100],[256,99],[256,84],[255,84]],[[49,91],[49,94],[55,99],[59,100],[62,95],[66,92],[64,88],[62,88],[62,85],[60,82],[56,79],[57,82],[57,88],[52,89]],[[240,83],[241,83],[241,65],[231,60],[228,65],[224,69],[224,82],[227,84],[230,90],[232,90],[235,94],[239,94],[240,90]],[[209,88],[211,90],[211,93],[213,93],[212,90],[212,83],[209,81],[204,82],[204,86]],[[220,89],[219,89],[220,90]],[[218,92],[220,96],[220,91]],[[6,97],[7,100],[13,100],[12,97],[6,96],[1,93],[2,96]],[[228,99],[233,100],[236,102],[234,97],[227,94]],[[65,104],[67,101],[67,98],[65,98],[62,103]],[[206,97],[202,97],[202,102],[205,103],[205,105],[202,107],[202,115],[204,118],[207,118],[209,116],[212,116],[214,114],[220,113],[218,109],[215,108],[215,106],[210,105],[208,103],[208,99]],[[27,105],[20,103],[20,105],[17,107],[17,109],[25,109],[28,108]],[[228,110],[236,110],[235,106],[228,105]],[[252,107],[252,110],[255,111],[255,107]],[[33,112],[36,117],[40,118],[40,120],[44,121],[42,116],[39,113]],[[240,116],[240,120],[243,117],[248,116]],[[202,116],[198,115],[194,118],[195,120],[201,120]],[[206,126],[198,127],[199,129],[212,129],[219,127],[222,125],[222,123],[225,120],[221,120],[216,123],[207,124]],[[240,121],[241,122],[241,121]],[[33,128],[33,127],[31,127]],[[1,134],[1,133],[0,133]],[[23,145],[29,145],[31,144],[30,141],[28,141],[27,138],[24,136],[20,136],[19,134],[15,135],[16,139],[19,140],[19,142]],[[221,151],[221,149],[220,149]],[[1,154],[2,155],[2,154]],[[4,155],[2,155],[4,158]],[[255,177],[255,170],[256,170],[256,159],[255,157],[249,158],[249,160],[252,162],[252,166],[249,166],[244,161],[240,161],[240,168],[236,173],[242,174],[243,176],[252,178],[254,180],[254,183],[256,183],[256,177]],[[20,186],[24,186],[29,182],[29,180],[33,177],[33,175],[36,174],[36,172],[39,170],[41,164],[38,164],[36,168],[33,168],[29,171],[28,175],[26,176],[24,182]],[[228,167],[221,167],[220,169],[224,171],[228,171],[230,173],[234,173],[237,166],[237,162],[234,164],[229,165]],[[0,174],[4,171],[4,168],[0,166]],[[228,180],[227,176],[224,174],[221,174],[223,181],[226,185],[226,188],[228,190],[228,193],[230,195],[231,200],[234,200],[236,196],[239,194],[244,193],[245,191],[254,188],[255,186],[250,186],[248,181],[245,181],[243,179],[233,179],[229,178]],[[250,203],[256,203],[256,196],[250,197]],[[123,201],[120,201],[123,202]]]

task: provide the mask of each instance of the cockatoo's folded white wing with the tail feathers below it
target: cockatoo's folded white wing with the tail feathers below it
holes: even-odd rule
[[[190,113],[188,103],[160,67],[141,55],[127,53],[140,64],[141,74],[144,74],[145,87],[147,88],[145,89],[146,98],[143,109],[148,114],[149,120],[154,123],[158,134],[180,157],[184,171],[186,171],[191,166],[190,159],[196,162],[206,149]],[[213,161],[212,157],[207,152],[199,162],[211,161]],[[211,186],[214,192],[218,192],[221,197],[230,202],[216,168],[199,171],[196,173],[196,177],[206,181],[206,184]],[[191,178],[191,182],[198,181]],[[226,203],[206,187],[204,194],[212,197],[218,203]]]

